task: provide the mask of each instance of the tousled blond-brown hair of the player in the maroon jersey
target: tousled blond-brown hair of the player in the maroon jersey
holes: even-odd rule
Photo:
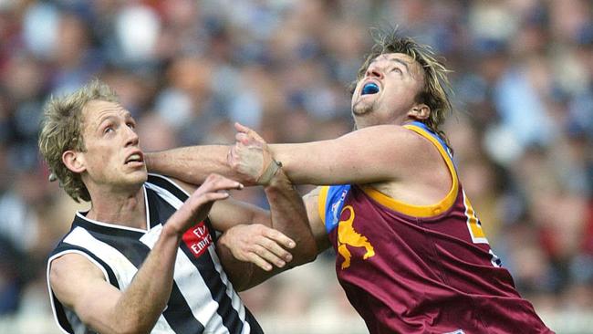
[[[357,81],[365,76],[370,62],[386,53],[401,53],[410,56],[414,61],[420,64],[424,72],[424,87],[416,96],[416,102],[424,103],[431,108],[431,115],[423,122],[431,130],[438,133],[444,141],[447,138],[439,127],[442,125],[447,115],[453,113],[453,105],[450,97],[453,95],[453,89],[447,73],[451,72],[445,68],[432,47],[420,44],[411,37],[402,37],[398,27],[373,28],[370,31],[374,40],[374,45],[365,61],[360,66]],[[356,81],[350,86],[350,92],[353,93],[356,87]],[[449,144],[447,142],[447,144]]]

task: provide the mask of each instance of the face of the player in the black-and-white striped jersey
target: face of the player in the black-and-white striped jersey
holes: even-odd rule
[[[78,153],[87,172],[83,174],[85,183],[114,191],[136,191],[146,181],[144,154],[135,127],[130,111],[118,103],[88,102],[82,131],[87,151]]]

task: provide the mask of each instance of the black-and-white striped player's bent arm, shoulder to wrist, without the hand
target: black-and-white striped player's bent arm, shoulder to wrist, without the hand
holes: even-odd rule
[[[149,333],[171,295],[180,240],[164,228],[130,287],[123,292],[111,286],[97,266],[78,254],[55,259],[49,282],[62,304],[99,333]]]

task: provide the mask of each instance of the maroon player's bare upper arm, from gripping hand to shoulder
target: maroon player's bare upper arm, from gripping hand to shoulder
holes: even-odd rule
[[[421,163],[427,142],[396,125],[355,130],[329,141],[270,144],[293,183],[342,184],[400,181]]]

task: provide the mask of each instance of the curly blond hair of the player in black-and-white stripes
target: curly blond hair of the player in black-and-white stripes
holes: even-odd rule
[[[39,151],[51,172],[49,180],[57,179],[76,202],[90,201],[90,194],[80,174],[70,171],[62,162],[62,154],[69,150],[86,151],[82,111],[91,100],[119,101],[113,89],[94,79],[71,94],[51,97],[44,108],[39,133]]]

